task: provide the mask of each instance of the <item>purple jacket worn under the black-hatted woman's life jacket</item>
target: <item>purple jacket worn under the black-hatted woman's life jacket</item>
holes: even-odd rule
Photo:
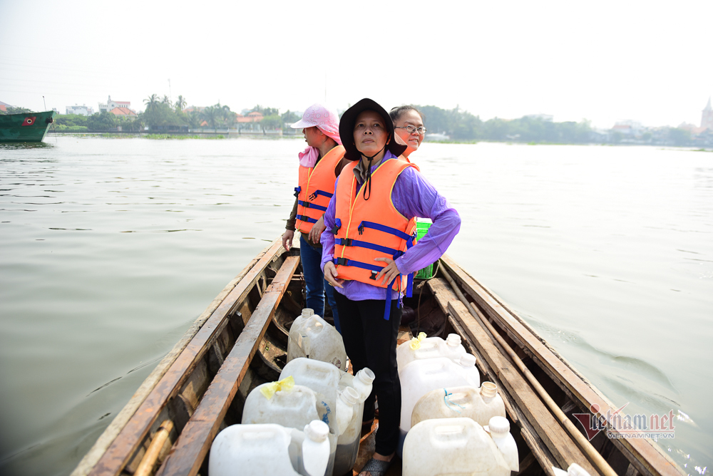
[[[394,159],[396,157],[387,150],[384,160]],[[376,167],[371,167],[371,171],[374,172],[374,170]],[[337,182],[341,177],[341,175],[337,177]],[[347,177],[347,180],[350,179],[351,177]],[[361,184],[359,185],[361,186]],[[374,187],[374,184],[371,186]],[[334,188],[336,190],[336,184]],[[358,187],[356,193],[359,193]],[[335,224],[336,199],[337,195],[335,194],[329,201],[329,207],[324,214],[324,225],[327,229],[324,230],[319,240],[322,242],[322,271],[324,271],[324,264],[334,258],[334,234],[330,230]],[[434,222],[429,232],[419,240],[416,246],[411,247],[403,256],[396,259],[396,267],[399,268],[401,274],[419,271],[419,269],[436,262],[446,252],[458,230],[461,229],[461,217],[456,209],[451,207],[446,197],[439,194],[431,182],[426,180],[421,172],[414,167],[406,168],[396,179],[394,190],[391,191],[391,201],[394,202],[394,207],[399,210],[399,213],[406,218],[430,218]],[[346,281],[343,289],[338,287],[334,289],[352,301],[386,299],[385,288],[360,281]]]

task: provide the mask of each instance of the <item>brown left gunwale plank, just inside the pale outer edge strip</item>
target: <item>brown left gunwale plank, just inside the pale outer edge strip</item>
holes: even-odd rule
[[[143,403],[139,405],[133,416],[120,430],[111,445],[93,466],[92,476],[113,476],[123,469],[129,458],[143,442],[151,425],[158,418],[158,414],[180,390],[188,379],[198,361],[205,355],[208,348],[215,342],[222,328],[227,323],[230,310],[245,300],[248,292],[260,278],[265,268],[275,256],[282,252],[279,240],[270,246],[267,252],[258,260],[250,271],[235,285],[225,299],[223,299],[210,318],[195,333],[195,336],[186,344],[183,351],[175,358],[168,371],[150,391]]]

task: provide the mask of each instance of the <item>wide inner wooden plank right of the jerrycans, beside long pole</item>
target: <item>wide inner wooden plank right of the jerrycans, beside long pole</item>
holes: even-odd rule
[[[550,413],[550,410],[540,400],[525,378],[518,372],[508,359],[496,348],[490,334],[471,316],[461,301],[448,303],[448,310],[476,343],[476,347],[488,360],[503,386],[515,400],[515,404],[523,412],[530,425],[533,426],[557,460],[560,467],[569,467],[573,462],[583,467],[590,475],[599,474],[590,464],[587,457],[570,438],[570,435],[560,426]]]

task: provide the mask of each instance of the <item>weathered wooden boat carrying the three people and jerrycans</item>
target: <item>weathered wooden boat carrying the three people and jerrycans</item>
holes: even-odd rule
[[[284,366],[288,328],[303,307],[299,271],[299,250],[285,252],[279,239],[260,252],[146,378],[72,476],[206,475],[215,435],[240,423],[250,390],[277,380]],[[460,334],[481,380],[497,384],[518,443],[519,475],[553,475],[553,466],[573,462],[590,475],[683,474],[652,440],[605,432],[591,443],[584,438],[573,413],[615,406],[450,257],[438,262],[433,279],[416,281],[405,301],[416,310],[414,331]],[[409,328],[402,330],[409,338]],[[366,462],[374,427],[361,438],[355,470]],[[399,462],[388,474],[401,474]]]

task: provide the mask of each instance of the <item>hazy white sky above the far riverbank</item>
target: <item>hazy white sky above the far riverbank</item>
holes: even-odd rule
[[[169,78],[237,111],[370,97],[601,128],[699,125],[713,94],[712,0],[0,0],[0,19],[0,100],[61,113],[143,110]]]

